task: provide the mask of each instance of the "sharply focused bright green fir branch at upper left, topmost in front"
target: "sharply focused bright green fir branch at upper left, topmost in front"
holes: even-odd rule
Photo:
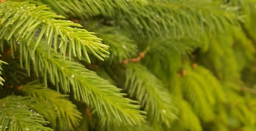
[[[72,53],[75,57],[78,56],[79,59],[81,59],[83,52],[86,59],[90,62],[87,51],[90,51],[100,60],[103,60],[102,57],[107,57],[104,53],[108,54],[106,50],[109,46],[102,44],[102,39],[92,35],[94,34],[93,32],[79,28],[81,25],[77,23],[67,20],[58,20],[65,17],[46,11],[49,8],[45,5],[36,7],[34,4],[27,2],[4,2],[0,3],[0,6],[3,6],[1,11],[5,11],[5,13],[0,16],[0,19],[2,19],[0,38],[9,30],[7,40],[9,40],[13,34],[17,34],[16,41],[20,38],[26,38],[26,40],[30,42],[34,36],[37,36],[38,39],[33,49],[34,52],[41,39],[44,37],[46,41],[45,47],[50,48],[53,43],[55,52],[57,48],[60,48],[64,60],[68,46],[70,59]],[[40,32],[37,34],[38,29]],[[60,40],[58,40],[59,36],[61,37]],[[27,44],[29,44],[29,42]]]

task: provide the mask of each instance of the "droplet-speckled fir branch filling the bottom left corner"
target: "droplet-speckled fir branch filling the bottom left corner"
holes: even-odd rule
[[[35,103],[29,97],[8,96],[0,100],[0,130],[6,131],[53,131],[44,125],[49,122],[45,121],[43,116],[29,111],[27,105]],[[24,105],[25,104],[25,105]],[[29,119],[28,119],[29,117]]]

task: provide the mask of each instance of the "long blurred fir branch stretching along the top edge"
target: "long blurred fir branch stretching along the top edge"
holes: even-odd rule
[[[21,0],[24,1],[24,0]],[[116,24],[137,36],[174,37],[224,31],[226,23],[236,23],[239,8],[202,1],[147,0],[30,0],[39,5],[48,4],[54,11],[68,16],[112,17]],[[230,25],[230,24],[228,24]],[[140,34],[140,35],[138,35]],[[138,38],[140,39],[140,38]]]

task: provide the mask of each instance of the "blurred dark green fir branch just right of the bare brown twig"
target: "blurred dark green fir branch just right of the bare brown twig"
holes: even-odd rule
[[[182,68],[182,60],[189,60],[189,54],[195,48],[202,47],[202,43],[203,41],[190,37],[158,37],[148,42],[149,50],[141,63],[162,80],[166,87],[172,88],[169,85],[172,84],[177,71]]]

